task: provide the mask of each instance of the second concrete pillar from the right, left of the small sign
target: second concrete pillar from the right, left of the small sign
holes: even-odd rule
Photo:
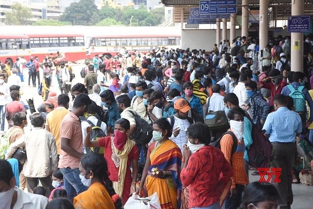
[[[269,0],[260,1],[260,50],[264,49],[268,44],[268,4]]]

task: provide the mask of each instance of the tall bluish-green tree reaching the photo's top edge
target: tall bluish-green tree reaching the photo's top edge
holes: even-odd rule
[[[70,22],[73,25],[94,25],[99,22],[98,12],[94,0],[80,0],[65,8],[60,21]]]

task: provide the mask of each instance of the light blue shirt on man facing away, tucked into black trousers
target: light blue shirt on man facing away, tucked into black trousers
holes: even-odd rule
[[[301,118],[287,107],[280,107],[268,114],[263,130],[270,142],[295,142],[296,133],[302,132]]]

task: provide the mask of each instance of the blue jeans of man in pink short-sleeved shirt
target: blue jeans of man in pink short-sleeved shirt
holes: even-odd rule
[[[70,202],[73,202],[76,194],[80,194],[86,191],[88,187],[84,186],[81,179],[79,178],[80,171],[78,168],[60,168],[60,171],[63,174],[64,189],[67,191],[67,199]]]

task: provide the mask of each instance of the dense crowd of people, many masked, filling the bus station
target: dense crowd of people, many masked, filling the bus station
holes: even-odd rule
[[[1,139],[0,147],[7,160],[0,160],[4,208],[120,209],[134,192],[156,192],[161,209],[290,209],[292,182],[313,166],[313,83],[307,71],[288,68],[290,55],[275,48],[288,47],[283,40],[261,50],[262,69],[248,51],[257,44],[246,37],[208,54],[159,48],[95,55],[75,85],[59,53],[47,56],[44,67],[31,57],[24,67],[28,85],[30,78],[42,85],[38,111],[10,81],[17,72],[21,79],[21,69],[10,69],[7,82],[0,74],[1,131],[4,116],[9,123],[9,142]],[[227,53],[235,47],[236,55]],[[279,54],[275,62],[269,51]],[[54,73],[59,95],[50,90]],[[31,131],[24,133],[28,109]],[[227,125],[215,129],[208,121],[221,113]],[[280,183],[249,183],[249,168],[258,175],[249,167],[253,130],[263,130],[273,147]],[[21,149],[26,159],[15,156]],[[302,167],[294,164],[297,153],[304,153]]]

